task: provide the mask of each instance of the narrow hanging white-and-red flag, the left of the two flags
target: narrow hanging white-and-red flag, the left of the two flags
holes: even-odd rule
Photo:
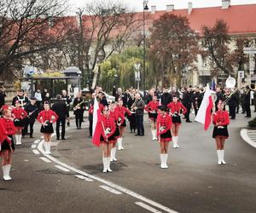
[[[93,106],[93,120],[92,120],[92,142],[97,147],[100,147],[101,134],[102,134],[101,110],[99,108],[99,103],[95,97],[94,106]]]

